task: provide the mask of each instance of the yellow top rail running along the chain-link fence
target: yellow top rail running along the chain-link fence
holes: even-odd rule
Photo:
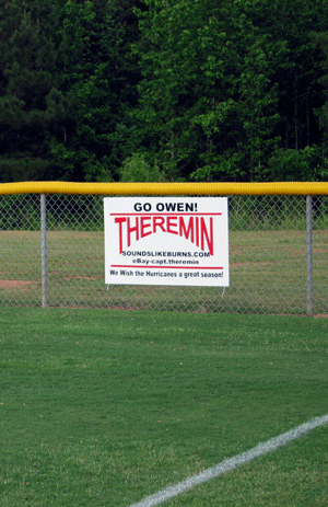
[[[0,195],[328,195],[328,182],[274,183],[1,183]]]

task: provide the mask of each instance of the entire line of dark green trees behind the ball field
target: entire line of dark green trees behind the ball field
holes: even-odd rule
[[[0,182],[321,181],[327,0],[0,0]]]

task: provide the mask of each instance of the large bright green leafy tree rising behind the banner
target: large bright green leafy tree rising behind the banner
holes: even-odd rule
[[[257,178],[278,115],[272,61],[284,45],[260,36],[244,2],[147,2],[138,51],[138,119],[172,177]]]

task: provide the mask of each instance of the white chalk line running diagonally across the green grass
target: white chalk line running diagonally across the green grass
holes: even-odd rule
[[[286,446],[291,441],[295,440],[296,438],[302,437],[302,435],[311,431],[312,429],[317,428],[318,426],[323,426],[324,424],[328,424],[328,414],[324,415],[323,417],[316,417],[314,419],[308,420],[307,423],[301,424],[294,429],[286,431],[278,437],[271,438],[266,442],[258,443],[256,447],[250,449],[249,451],[242,452],[233,458],[227,460],[221,461],[221,463],[212,466],[211,469],[204,470],[198,475],[194,475],[192,477],[187,479],[186,481],[179,482],[175,486],[168,486],[166,489],[155,493],[154,495],[148,496],[143,498],[141,502],[137,504],[130,505],[130,507],[153,507],[155,505],[163,504],[164,502],[173,498],[180,493],[190,489],[198,484],[203,482],[208,482],[211,479],[218,477],[222,473],[229,472],[243,463],[247,463],[248,461],[254,460],[254,458],[258,458],[259,456],[267,454],[268,452],[274,451],[279,447]]]

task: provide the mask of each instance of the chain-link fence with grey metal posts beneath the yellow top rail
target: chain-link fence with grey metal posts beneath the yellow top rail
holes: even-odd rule
[[[328,196],[229,196],[231,285],[225,290],[106,287],[104,197],[0,196],[1,306],[328,313]]]

